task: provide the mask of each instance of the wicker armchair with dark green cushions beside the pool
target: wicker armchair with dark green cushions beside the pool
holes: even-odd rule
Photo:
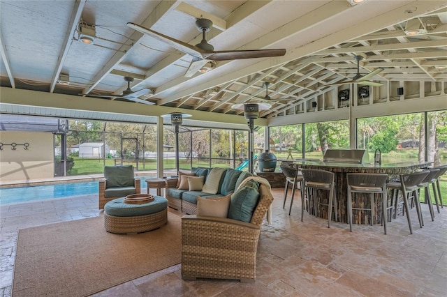
[[[135,178],[133,166],[105,166],[104,181],[99,181],[99,209],[115,198],[140,194],[140,178]]]

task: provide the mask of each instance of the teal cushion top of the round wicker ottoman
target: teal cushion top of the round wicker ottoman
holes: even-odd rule
[[[104,212],[117,217],[133,217],[135,215],[150,215],[159,213],[168,207],[165,197],[154,196],[154,200],[143,204],[124,203],[124,197],[108,201],[104,206]]]

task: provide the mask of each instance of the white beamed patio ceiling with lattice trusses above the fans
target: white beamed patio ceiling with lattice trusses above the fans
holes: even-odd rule
[[[286,55],[218,62],[208,73],[186,78],[191,56],[126,26],[141,24],[196,45],[202,36],[194,23],[200,16],[219,27],[207,33],[215,50],[285,48]],[[261,113],[269,119],[337,88],[326,84],[352,79],[358,54],[365,57],[360,73],[384,69],[372,77],[382,89],[395,86],[392,82],[447,82],[447,1],[366,0],[352,6],[346,0],[0,0],[0,20],[3,88],[118,95],[126,89],[123,77],[131,76],[134,91],[155,90],[142,100],[219,116],[242,114],[232,105],[265,96],[263,82],[270,82],[271,98],[295,99],[272,103]],[[411,20],[427,33],[406,36]],[[78,41],[81,22],[94,26],[94,45]],[[69,75],[68,86],[58,84],[60,75]],[[217,93],[210,94],[212,89]],[[91,105],[112,100],[88,99]]]

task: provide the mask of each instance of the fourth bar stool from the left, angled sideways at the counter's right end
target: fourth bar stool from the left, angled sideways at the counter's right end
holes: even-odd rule
[[[422,183],[425,176],[430,174],[428,170],[423,170],[421,172],[414,172],[411,174],[400,174],[400,182],[387,183],[386,187],[393,190],[402,191],[402,199],[404,201],[404,213],[406,213],[406,220],[408,220],[408,226],[410,229],[410,234],[413,234],[413,229],[411,229],[411,220],[410,220],[410,211],[409,211],[409,196],[412,195],[415,204],[416,204],[416,212],[418,213],[419,226],[422,228],[423,220],[422,214],[420,213],[420,202],[418,195],[418,185]],[[395,201],[395,213],[397,212],[397,200],[399,197],[396,197]]]

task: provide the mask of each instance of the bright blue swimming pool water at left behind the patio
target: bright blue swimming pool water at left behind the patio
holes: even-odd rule
[[[147,183],[142,179],[141,189],[146,188]],[[143,190],[141,191],[143,192]],[[0,204],[34,202],[91,194],[98,194],[98,181],[28,185],[26,187],[0,189]]]

